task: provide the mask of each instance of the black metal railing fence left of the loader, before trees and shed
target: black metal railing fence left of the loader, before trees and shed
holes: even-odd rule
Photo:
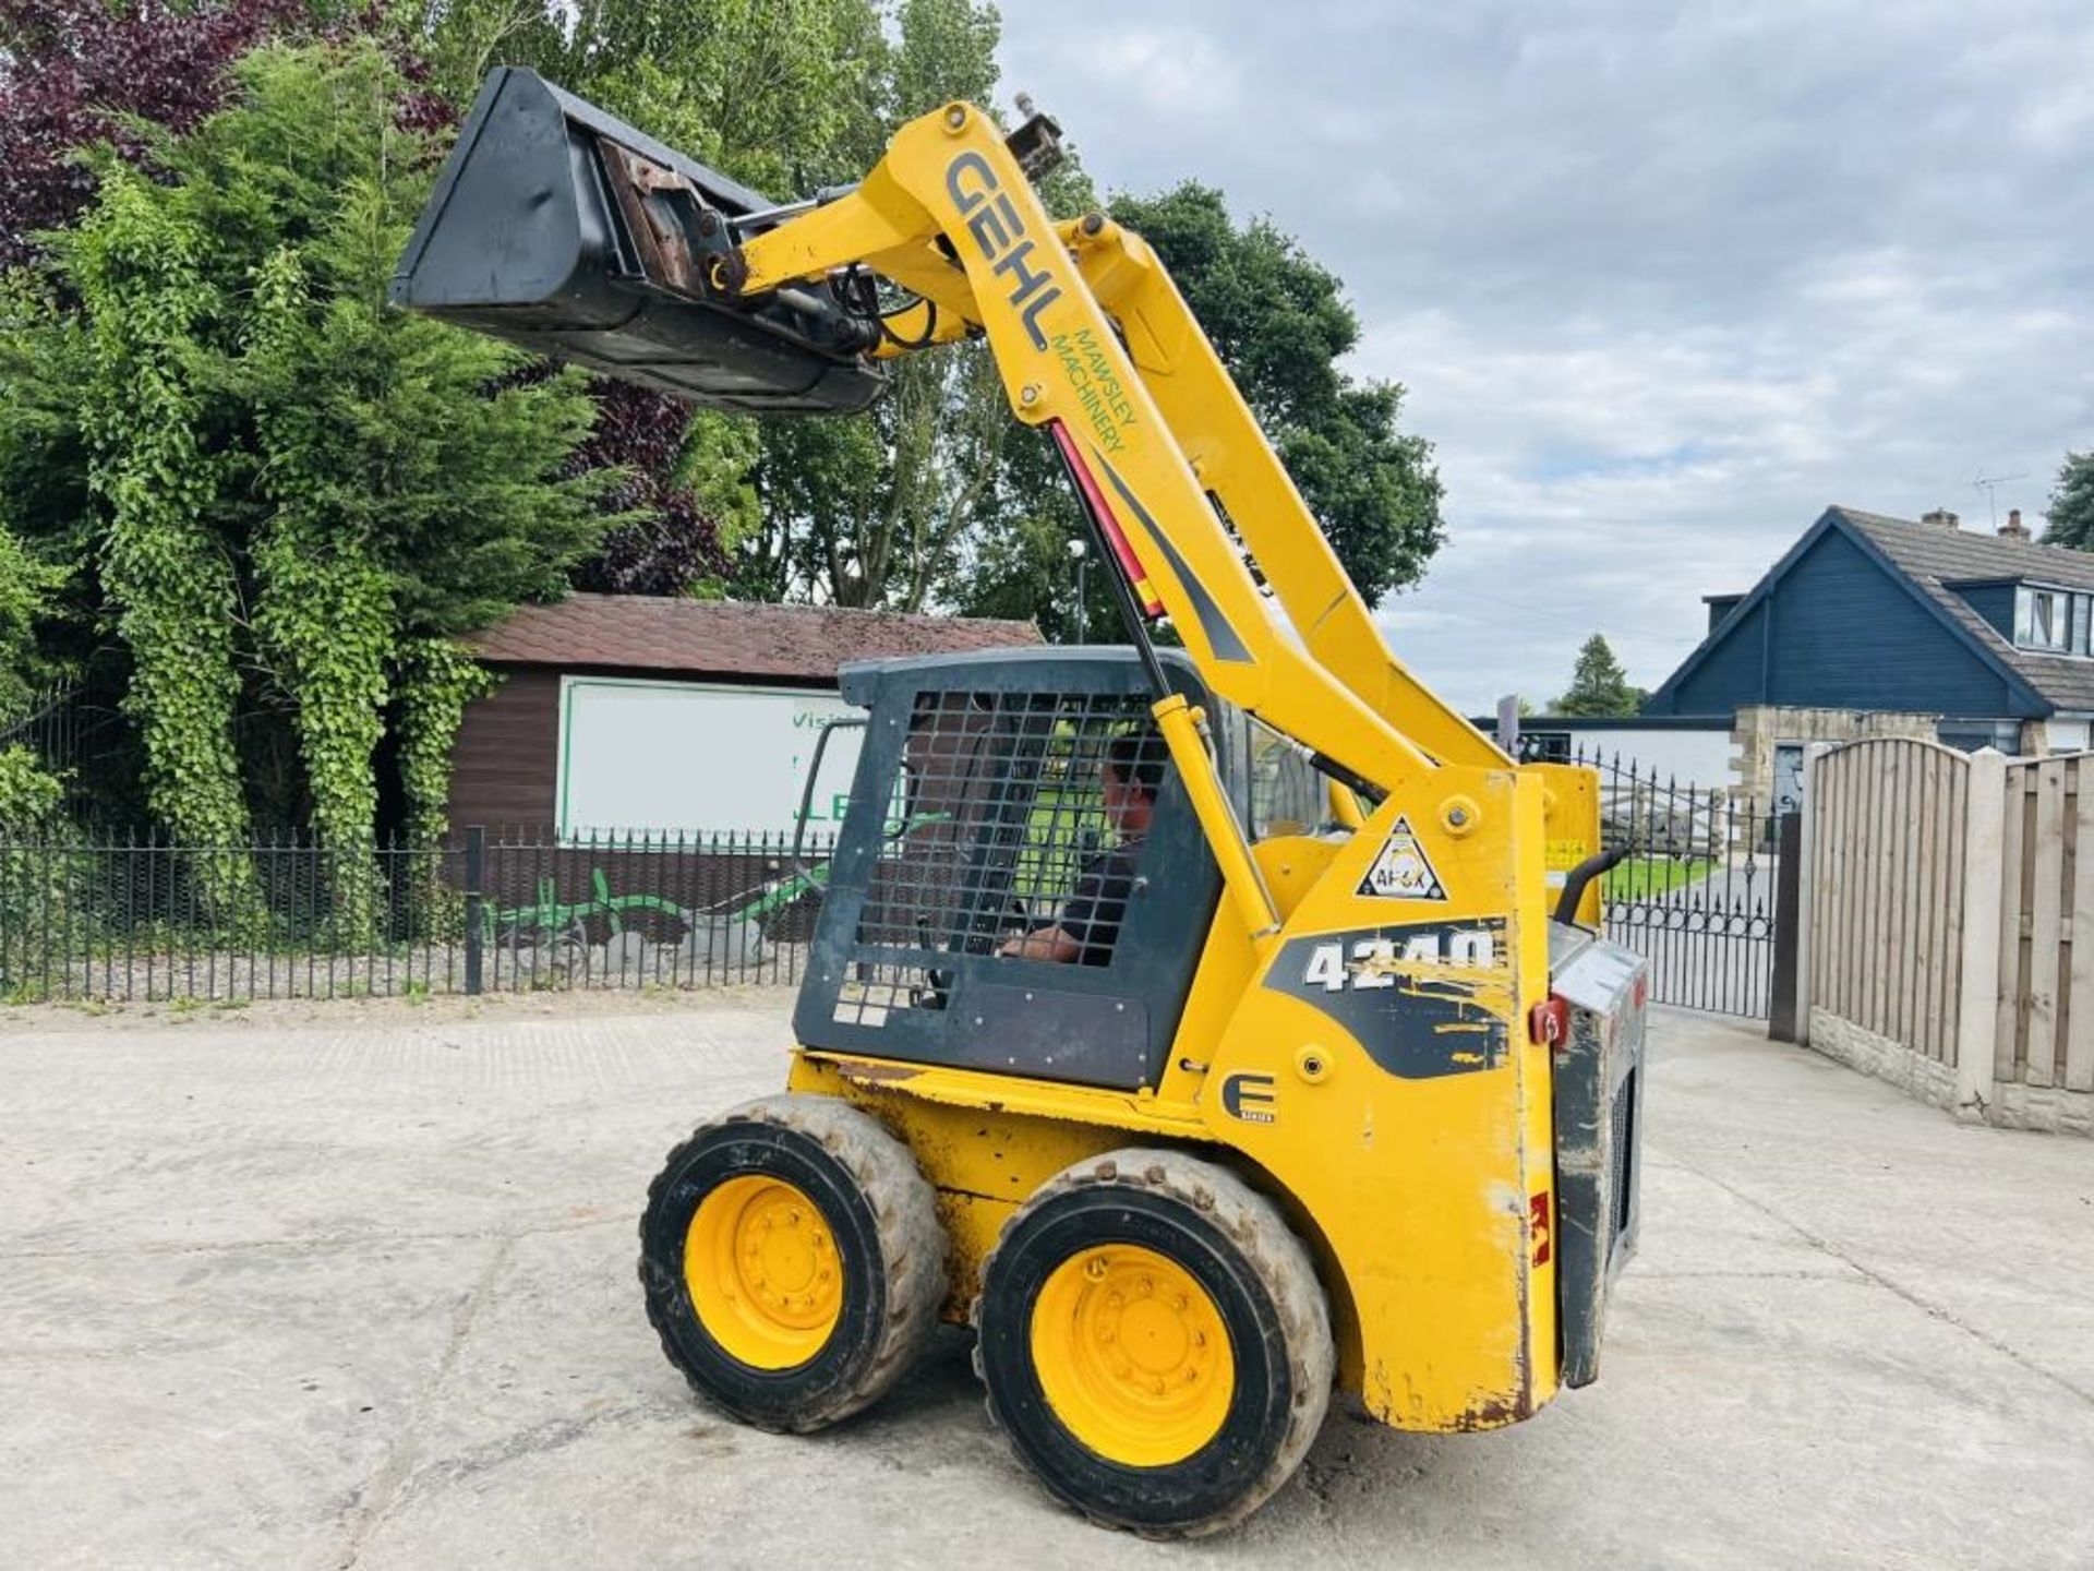
[[[0,1003],[794,982],[833,840],[0,838]]]

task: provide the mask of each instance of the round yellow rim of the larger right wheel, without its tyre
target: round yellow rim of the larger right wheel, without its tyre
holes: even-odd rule
[[[1191,1271],[1135,1244],[1053,1269],[1032,1305],[1032,1368],[1068,1433],[1124,1466],[1183,1462],[1235,1395],[1221,1309]]]

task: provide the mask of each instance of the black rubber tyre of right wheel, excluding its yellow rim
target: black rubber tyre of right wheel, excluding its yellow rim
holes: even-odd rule
[[[1127,1466],[1078,1441],[1032,1364],[1032,1307],[1076,1248],[1168,1255],[1229,1326],[1235,1393],[1221,1431],[1168,1466]],[[988,1416],[1064,1504],[1143,1537],[1200,1537],[1244,1521],[1292,1477],[1323,1426],[1336,1347],[1309,1251],[1271,1200],[1215,1163],[1118,1150],[1078,1163],[1018,1209],[982,1263],[974,1372]]]

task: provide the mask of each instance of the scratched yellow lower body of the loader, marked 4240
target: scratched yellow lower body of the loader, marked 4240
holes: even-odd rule
[[[1543,783],[1514,769],[1434,779],[1439,802],[1384,802],[1334,844],[1263,957],[1240,909],[1217,909],[1154,1093],[796,1056],[792,1089],[869,1108],[936,1183],[953,1318],[1003,1221],[1047,1177],[1118,1146],[1210,1144],[1311,1240],[1340,1380],[1374,1416],[1487,1429],[1554,1395],[1554,1276],[1533,1259],[1554,1204],[1550,1049],[1524,1028],[1547,995],[1547,953],[1541,924],[1514,915],[1541,905]],[[1424,922],[1416,901],[1359,894],[1397,836],[1416,838],[1447,890]],[[1432,1062],[1395,1072],[1390,1043],[1349,1024],[1388,999],[1445,1016]]]

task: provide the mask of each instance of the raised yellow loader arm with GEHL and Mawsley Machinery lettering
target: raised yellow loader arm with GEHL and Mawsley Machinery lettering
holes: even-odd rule
[[[844,195],[758,235],[729,264],[745,295],[865,266],[917,293],[884,354],[982,331],[1011,408],[1047,425],[1219,693],[1382,792],[1428,760],[1510,760],[1388,654],[1168,272],[1099,214],[1049,220],[1018,147],[1051,142],[946,105],[905,126]],[[1229,530],[1300,639],[1271,618]],[[1108,536],[1110,538],[1110,536]]]

